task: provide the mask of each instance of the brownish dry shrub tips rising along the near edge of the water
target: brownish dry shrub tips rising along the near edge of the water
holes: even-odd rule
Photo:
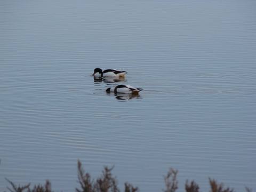
[[[79,188],[75,188],[76,192],[120,192],[120,189],[117,186],[117,179],[113,177],[111,171],[114,167],[110,169],[105,166],[100,177],[94,181],[91,179],[90,173],[84,171],[82,163],[78,160],[77,162],[77,171],[78,171],[78,183],[80,184]],[[177,180],[178,170],[172,168],[169,169],[167,175],[164,176],[165,189],[164,192],[175,192],[178,189],[178,180]],[[11,192],[53,192],[51,189],[51,182],[46,180],[44,185],[35,185],[30,187],[30,183],[24,186],[17,186],[13,181],[6,179],[10,183],[10,187],[7,187]],[[216,180],[209,178],[210,182],[210,192],[234,192],[234,189],[224,188],[223,183],[218,183]],[[186,192],[199,192],[199,186],[195,181],[189,182],[188,180],[185,183]],[[250,188],[245,187],[247,192],[252,192]],[[134,187],[130,183],[124,183],[124,192],[137,192],[139,191],[138,187]]]

